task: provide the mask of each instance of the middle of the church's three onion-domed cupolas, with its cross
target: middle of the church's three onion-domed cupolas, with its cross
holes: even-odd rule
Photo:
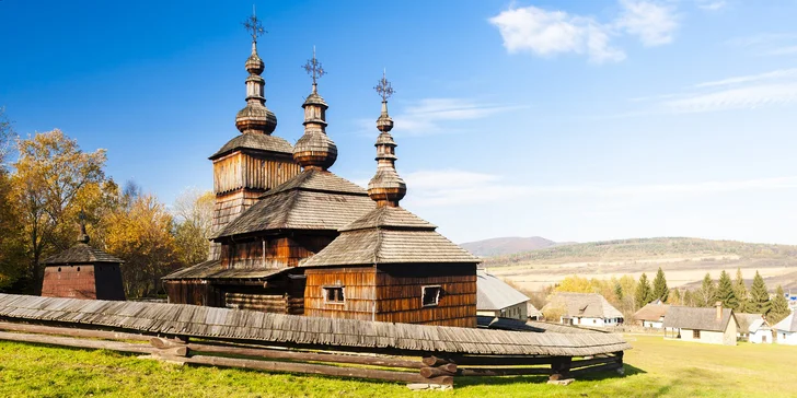
[[[328,105],[319,95],[317,80],[326,74],[321,62],[313,58],[302,68],[313,78],[313,91],[302,104],[304,108],[304,134],[293,147],[293,160],[304,169],[326,171],[337,160],[337,147],[326,134],[326,109]]]

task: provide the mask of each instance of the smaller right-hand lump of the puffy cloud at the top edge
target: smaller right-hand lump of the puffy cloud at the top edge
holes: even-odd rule
[[[623,12],[616,25],[638,36],[645,46],[660,46],[672,42],[678,27],[671,8],[650,1],[621,0]]]

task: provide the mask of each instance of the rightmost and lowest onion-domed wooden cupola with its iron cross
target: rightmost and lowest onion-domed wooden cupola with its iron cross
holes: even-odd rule
[[[397,207],[399,201],[407,192],[407,186],[395,171],[395,147],[390,130],[393,129],[393,119],[388,114],[388,98],[395,93],[385,74],[379,84],[373,87],[382,97],[382,114],[377,119],[377,174],[368,183],[368,196],[377,202],[378,207]]]

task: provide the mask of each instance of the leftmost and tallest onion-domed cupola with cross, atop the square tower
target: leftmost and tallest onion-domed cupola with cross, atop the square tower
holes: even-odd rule
[[[277,128],[277,117],[266,107],[266,81],[261,77],[265,70],[263,60],[257,55],[257,37],[266,31],[257,16],[250,16],[244,27],[252,34],[252,55],[246,59],[246,106],[235,116],[235,127],[242,133],[270,134]]]

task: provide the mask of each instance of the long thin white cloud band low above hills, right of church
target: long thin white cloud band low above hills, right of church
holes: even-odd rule
[[[624,200],[662,200],[695,195],[713,195],[750,190],[778,190],[797,188],[797,176],[701,182],[688,184],[579,184],[525,185],[499,175],[459,169],[421,171],[404,176],[411,191],[406,200],[411,206],[436,207],[506,201],[508,198],[532,196],[603,197]]]

